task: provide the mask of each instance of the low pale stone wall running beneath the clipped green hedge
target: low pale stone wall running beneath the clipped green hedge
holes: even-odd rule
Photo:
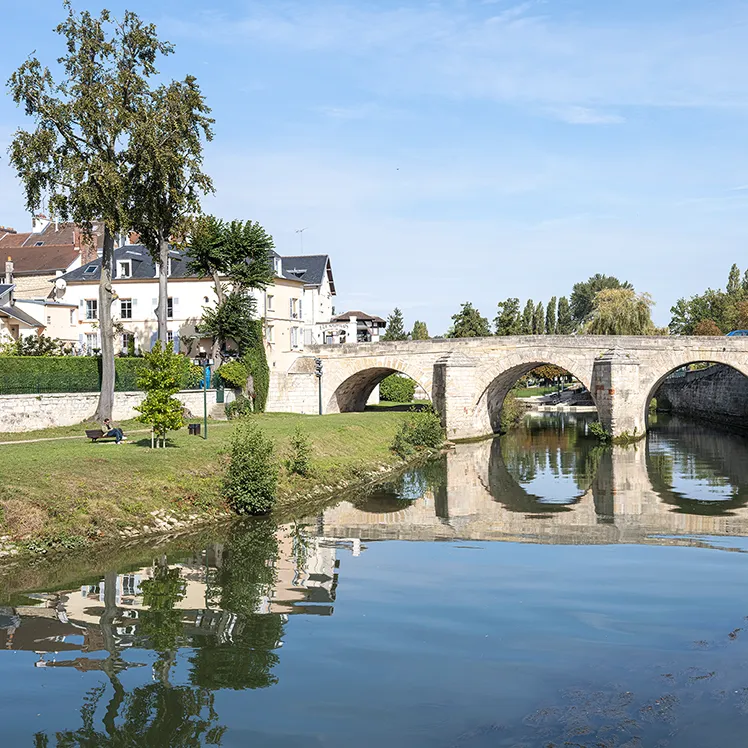
[[[227,402],[234,399],[230,390],[225,390],[225,396]],[[112,418],[115,421],[135,418],[135,407],[143,402],[144,397],[143,392],[115,392]],[[202,416],[202,390],[183,390],[177,397],[193,416]],[[98,392],[3,395],[0,396],[0,433],[74,426],[90,419],[98,402]],[[216,390],[208,390],[208,413],[215,404]]]

